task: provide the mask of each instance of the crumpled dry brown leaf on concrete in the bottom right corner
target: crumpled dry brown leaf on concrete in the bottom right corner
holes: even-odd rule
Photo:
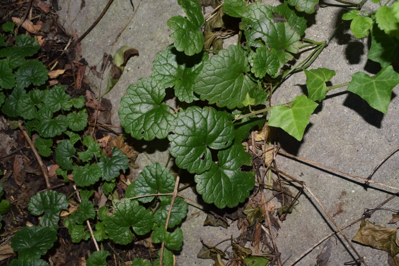
[[[392,257],[399,253],[397,228],[387,228],[363,220],[352,241],[388,252]]]

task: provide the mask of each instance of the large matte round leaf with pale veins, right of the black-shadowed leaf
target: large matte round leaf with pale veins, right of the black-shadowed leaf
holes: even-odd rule
[[[247,93],[255,98],[256,84],[244,75],[248,71],[245,51],[237,45],[230,45],[205,63],[197,77],[194,92],[209,104],[216,103],[229,109],[241,108]]]

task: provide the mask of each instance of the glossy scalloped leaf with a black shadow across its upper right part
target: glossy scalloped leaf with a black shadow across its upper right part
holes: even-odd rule
[[[153,76],[164,88],[175,87],[175,95],[182,102],[198,100],[194,95],[194,83],[200,73],[207,53],[188,56],[173,45],[157,54],[153,62]]]

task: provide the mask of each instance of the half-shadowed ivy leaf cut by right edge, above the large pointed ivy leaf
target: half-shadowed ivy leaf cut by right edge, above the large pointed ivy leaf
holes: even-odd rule
[[[392,64],[398,50],[398,40],[390,37],[377,24],[371,31],[371,47],[367,58],[379,62],[382,67]]]

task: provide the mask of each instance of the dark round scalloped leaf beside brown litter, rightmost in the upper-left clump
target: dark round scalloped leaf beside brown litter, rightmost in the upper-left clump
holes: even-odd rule
[[[48,79],[46,66],[35,59],[27,60],[16,70],[15,75],[17,88],[26,88],[30,84],[40,86]]]

